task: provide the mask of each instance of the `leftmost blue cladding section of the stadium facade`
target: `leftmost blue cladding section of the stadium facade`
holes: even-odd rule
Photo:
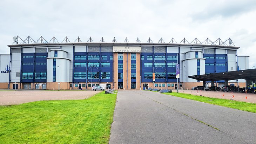
[[[29,63],[30,65],[23,65],[23,63],[27,64]],[[33,63],[31,65],[31,63]],[[22,79],[22,73],[33,73],[34,72],[34,53],[21,53],[21,82],[26,83],[32,83],[33,79]],[[34,73],[33,73],[34,75]],[[34,76],[33,76],[34,77]]]

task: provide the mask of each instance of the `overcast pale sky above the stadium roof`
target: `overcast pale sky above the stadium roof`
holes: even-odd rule
[[[172,37],[180,43],[185,37],[203,42],[229,37],[238,55],[248,55],[249,68],[256,66],[255,0],[1,0],[0,54],[9,54],[13,36],[33,40],[53,36],[71,42],[79,36],[87,42],[101,37],[111,42],[167,43]],[[227,43],[228,44],[228,43]]]

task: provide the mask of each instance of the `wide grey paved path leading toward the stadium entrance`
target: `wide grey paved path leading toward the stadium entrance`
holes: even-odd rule
[[[256,114],[159,92],[119,91],[109,143],[256,143]]]

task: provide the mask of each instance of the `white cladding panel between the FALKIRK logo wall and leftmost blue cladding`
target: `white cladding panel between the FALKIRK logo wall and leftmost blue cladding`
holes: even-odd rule
[[[11,82],[20,82],[20,75],[16,77],[16,73],[20,73],[21,53],[12,53],[11,63]]]

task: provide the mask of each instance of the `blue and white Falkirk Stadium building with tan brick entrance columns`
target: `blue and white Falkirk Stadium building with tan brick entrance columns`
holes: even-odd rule
[[[19,44],[19,41],[22,41]],[[229,44],[226,44],[229,43]],[[93,85],[106,88],[189,89],[202,85],[191,75],[219,73],[249,68],[249,56],[238,56],[231,39],[202,43],[185,38],[177,43],[161,38],[153,43],[149,38],[136,42],[93,42],[80,38],[70,42],[67,37],[58,42],[55,37],[46,41],[43,37],[34,41],[14,37],[8,45],[10,55],[0,56],[1,89],[91,89]],[[176,78],[176,64],[180,64],[180,78]],[[154,77],[155,75],[155,77]],[[153,81],[153,78],[154,81]],[[245,86],[245,80],[229,81],[229,84]],[[209,87],[213,82],[206,82]],[[215,81],[222,87],[224,81]]]

